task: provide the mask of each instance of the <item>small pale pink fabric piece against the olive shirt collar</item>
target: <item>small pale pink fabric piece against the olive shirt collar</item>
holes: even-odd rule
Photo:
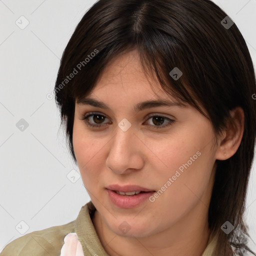
[[[84,256],[76,233],[69,233],[65,236],[60,256]]]

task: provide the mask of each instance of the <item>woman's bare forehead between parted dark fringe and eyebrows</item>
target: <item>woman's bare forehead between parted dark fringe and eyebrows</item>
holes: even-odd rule
[[[155,77],[145,75],[137,50],[132,50],[112,59],[104,68],[91,93],[117,93],[118,90],[141,93],[140,96],[171,98]]]

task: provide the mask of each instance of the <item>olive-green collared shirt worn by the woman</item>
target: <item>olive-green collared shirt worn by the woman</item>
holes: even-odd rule
[[[0,256],[60,256],[64,237],[70,232],[76,232],[84,256],[108,256],[91,221],[94,211],[95,207],[89,201],[81,207],[75,220],[64,225],[52,226],[25,234],[8,243]],[[212,250],[215,242],[215,239],[211,240],[202,256],[213,255]]]

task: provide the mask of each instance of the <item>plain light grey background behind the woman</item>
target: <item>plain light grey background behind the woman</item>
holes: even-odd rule
[[[74,220],[89,201],[59,128],[58,109],[46,95],[65,45],[94,2],[0,0],[0,251],[25,233]],[[256,66],[256,0],[214,2],[240,29]],[[246,199],[254,250],[255,184],[254,158]]]

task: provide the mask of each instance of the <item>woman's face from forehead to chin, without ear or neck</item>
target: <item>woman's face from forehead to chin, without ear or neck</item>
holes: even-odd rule
[[[216,153],[211,123],[189,105],[135,108],[143,101],[176,102],[153,85],[157,94],[137,52],[130,51],[109,63],[86,97],[108,108],[88,101],[75,105],[73,148],[82,181],[97,214],[117,235],[143,237],[168,229],[177,234],[181,226],[207,221]],[[149,192],[112,191],[143,190],[127,185]]]

